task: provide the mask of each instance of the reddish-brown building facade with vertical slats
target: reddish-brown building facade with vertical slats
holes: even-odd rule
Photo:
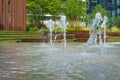
[[[0,30],[26,30],[26,0],[0,0]]]

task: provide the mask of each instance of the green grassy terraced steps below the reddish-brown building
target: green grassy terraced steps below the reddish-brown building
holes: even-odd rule
[[[18,38],[39,38],[41,32],[23,32],[0,30],[0,42],[19,42]]]

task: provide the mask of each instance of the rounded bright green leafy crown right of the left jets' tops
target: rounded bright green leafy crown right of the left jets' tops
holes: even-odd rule
[[[86,3],[81,0],[67,0],[63,5],[64,13],[69,20],[81,20],[86,15]]]

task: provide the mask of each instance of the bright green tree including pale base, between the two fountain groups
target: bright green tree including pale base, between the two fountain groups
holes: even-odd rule
[[[85,21],[86,2],[82,0],[66,0],[63,4],[62,12],[66,15],[70,26],[80,26],[78,22]]]

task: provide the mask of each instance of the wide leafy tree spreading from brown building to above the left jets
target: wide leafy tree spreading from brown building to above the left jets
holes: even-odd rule
[[[33,27],[43,27],[44,15],[57,15],[60,12],[61,0],[27,0],[27,19]]]

